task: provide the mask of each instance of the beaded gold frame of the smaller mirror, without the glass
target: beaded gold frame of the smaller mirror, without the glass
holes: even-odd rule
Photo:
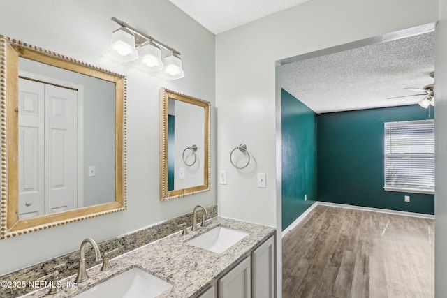
[[[205,162],[203,165],[203,185],[193,186],[189,188],[175,189],[168,191],[168,99],[183,101],[184,103],[191,103],[204,108],[204,140],[205,144],[204,155]],[[187,96],[176,91],[166,88],[161,88],[160,100],[160,200],[167,201],[175,198],[182,198],[185,195],[193,195],[203,191],[210,190],[210,102]]]

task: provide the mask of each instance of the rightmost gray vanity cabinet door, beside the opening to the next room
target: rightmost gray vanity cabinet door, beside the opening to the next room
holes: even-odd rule
[[[251,254],[253,298],[274,297],[274,241],[273,236]]]

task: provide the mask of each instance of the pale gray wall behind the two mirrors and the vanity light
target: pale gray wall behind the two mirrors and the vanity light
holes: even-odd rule
[[[111,33],[118,28],[111,17],[182,52],[185,77],[164,80],[105,57]],[[210,31],[165,0],[8,1],[0,10],[0,28],[5,36],[126,75],[128,156],[126,211],[1,240],[0,275],[75,251],[85,237],[103,241],[186,214],[196,204],[216,203],[214,180],[211,191],[168,202],[159,200],[160,88],[202,98],[215,106],[215,36]],[[212,165],[215,152],[214,147]]]

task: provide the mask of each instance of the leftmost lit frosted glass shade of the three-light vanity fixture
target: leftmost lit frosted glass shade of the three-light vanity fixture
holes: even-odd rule
[[[129,62],[138,58],[135,38],[124,27],[113,31],[107,54],[119,61]]]

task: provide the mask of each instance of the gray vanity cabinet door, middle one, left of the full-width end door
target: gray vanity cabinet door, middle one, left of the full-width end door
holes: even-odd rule
[[[250,257],[219,279],[219,298],[251,298]]]

